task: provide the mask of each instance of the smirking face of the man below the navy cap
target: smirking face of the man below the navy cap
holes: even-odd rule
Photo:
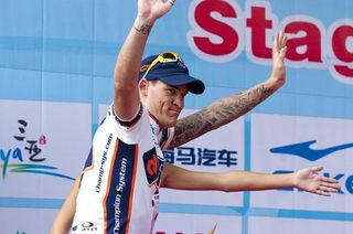
[[[162,127],[173,127],[184,108],[188,86],[170,86],[161,81],[148,82],[147,107]]]

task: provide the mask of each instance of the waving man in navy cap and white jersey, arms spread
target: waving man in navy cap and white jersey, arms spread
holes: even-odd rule
[[[318,176],[321,167],[288,174],[247,171],[208,173],[167,163],[162,149],[181,146],[249,111],[284,85],[286,36],[277,33],[270,77],[178,120],[184,97],[204,91],[179,54],[142,61],[148,34],[174,1],[138,0],[138,15],[117,59],[114,103],[97,129],[85,169],[54,222],[52,233],[151,233],[159,188],[257,191],[299,188],[319,195],[338,192],[338,181]]]

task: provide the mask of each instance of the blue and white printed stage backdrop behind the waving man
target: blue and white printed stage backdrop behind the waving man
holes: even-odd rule
[[[1,234],[46,234],[113,98],[131,0],[0,2]],[[156,234],[353,233],[353,1],[176,1],[146,55],[179,52],[202,78],[186,115],[265,81],[276,31],[287,82],[252,113],[167,152],[193,170],[288,172],[324,166],[332,198],[297,190],[161,191]]]

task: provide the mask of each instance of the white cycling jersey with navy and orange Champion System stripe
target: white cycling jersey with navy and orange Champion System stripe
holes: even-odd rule
[[[161,147],[172,135],[145,107],[125,127],[111,105],[82,174],[72,233],[151,233],[164,162]]]

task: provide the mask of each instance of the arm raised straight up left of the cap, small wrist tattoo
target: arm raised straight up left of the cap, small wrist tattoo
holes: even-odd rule
[[[130,120],[139,107],[138,73],[149,32],[156,20],[164,15],[174,0],[139,0],[138,14],[120,49],[114,74],[115,113],[122,120]]]

